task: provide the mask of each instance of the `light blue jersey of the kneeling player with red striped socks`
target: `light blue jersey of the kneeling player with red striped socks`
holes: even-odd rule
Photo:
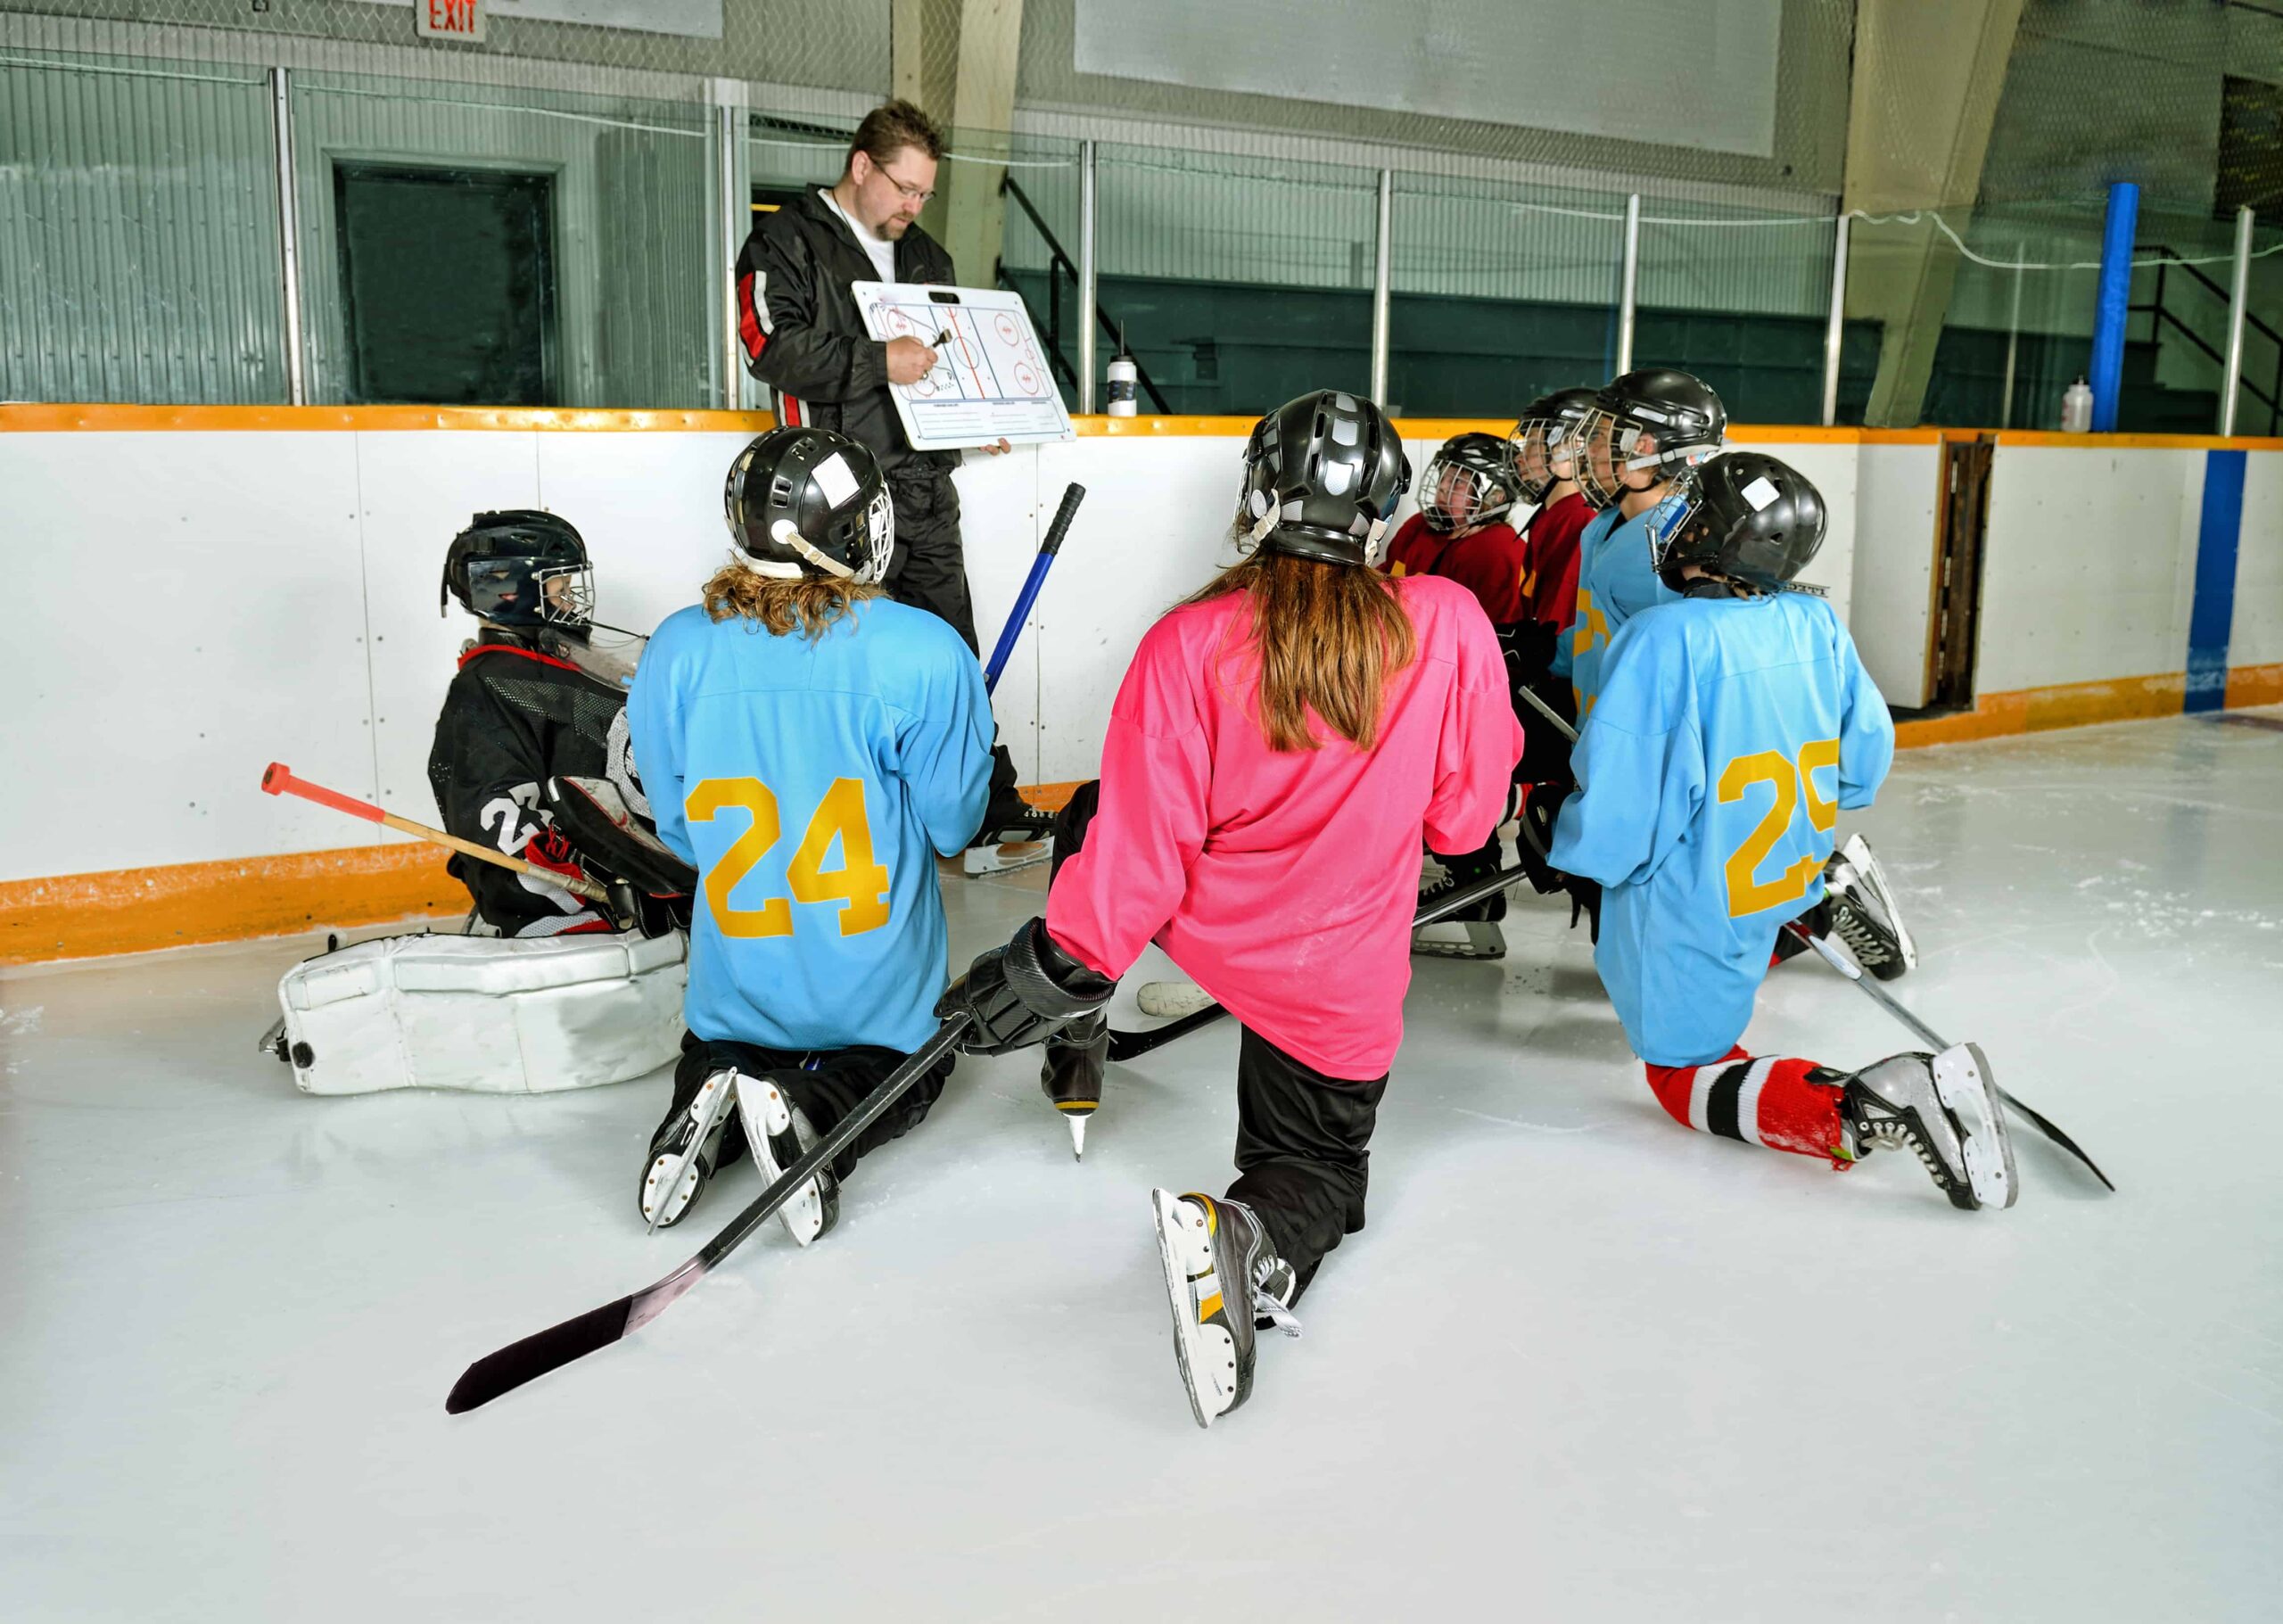
[[[1641,1060],[1705,1064],[1744,1035],[1776,930],[1824,895],[1838,813],[1893,758],[1822,598],[1678,598],[1616,633],[1552,863],[1605,886],[1594,964]]]

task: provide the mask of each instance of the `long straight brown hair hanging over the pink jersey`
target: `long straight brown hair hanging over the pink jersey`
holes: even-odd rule
[[[1356,564],[1317,564],[1290,553],[1253,553],[1224,569],[1189,603],[1231,592],[1253,601],[1260,651],[1260,733],[1269,749],[1315,749],[1313,710],[1356,749],[1379,738],[1388,678],[1418,658],[1418,633],[1395,585]]]

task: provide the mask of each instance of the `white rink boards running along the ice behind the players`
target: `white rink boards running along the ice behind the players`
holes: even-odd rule
[[[452,534],[479,507],[562,512],[594,550],[600,617],[646,633],[694,603],[724,557],[721,473],[742,441],[680,429],[0,436],[0,537],[21,608],[0,669],[11,765],[30,786],[0,804],[0,879],[390,838],[260,795],[267,761],[434,815],[429,731],[473,635],[457,605],[436,614]],[[1409,443],[1415,473],[1434,448]],[[1922,471],[1936,448],[1762,450],[1824,489],[1831,534],[1808,576],[1831,589],[1888,688],[1879,651],[1925,646],[1920,566],[1899,587],[1886,571],[1904,555],[1931,560]],[[1025,783],[1098,770],[1137,640],[1233,557],[1240,452],[1237,434],[1089,434],[970,455],[957,473],[986,656],[1064,484],[1087,487],[995,699]],[[1982,692],[2185,665],[2203,457],[2000,448]],[[2253,452],[2235,665],[2283,660],[2278,514],[2283,455]],[[1858,530],[1877,537],[1863,592]],[[1911,699],[1899,683],[1890,697]],[[87,788],[130,772],[135,799]]]

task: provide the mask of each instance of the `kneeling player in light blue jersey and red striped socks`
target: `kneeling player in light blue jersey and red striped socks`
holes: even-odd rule
[[[1852,1074],[1740,1046],[1776,932],[1824,895],[1838,813],[1895,754],[1847,628],[1790,585],[1822,534],[1815,487],[1756,452],[1657,509],[1639,546],[1678,596],[1610,642],[1552,861],[1603,886],[1594,964],[1676,1121],[1836,1167],[1909,1147],[1954,1206],[2011,1206],[1973,1044]]]

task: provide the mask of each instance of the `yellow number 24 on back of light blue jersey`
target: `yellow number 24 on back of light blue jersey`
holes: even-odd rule
[[[861,936],[888,923],[888,866],[872,859],[863,779],[833,779],[824,799],[817,802],[792,861],[785,863],[792,902],[767,898],[760,907],[731,905],[737,882],[753,873],[753,863],[783,834],[776,793],[760,779],[703,779],[689,790],[683,813],[689,822],[712,822],[731,806],[742,806],[751,815],[751,825],[731,841],[721,861],[705,875],[705,907],[724,936],[790,936],[792,902],[840,902],[842,936]],[[840,841],[840,868],[826,868],[824,859],[836,838]]]

